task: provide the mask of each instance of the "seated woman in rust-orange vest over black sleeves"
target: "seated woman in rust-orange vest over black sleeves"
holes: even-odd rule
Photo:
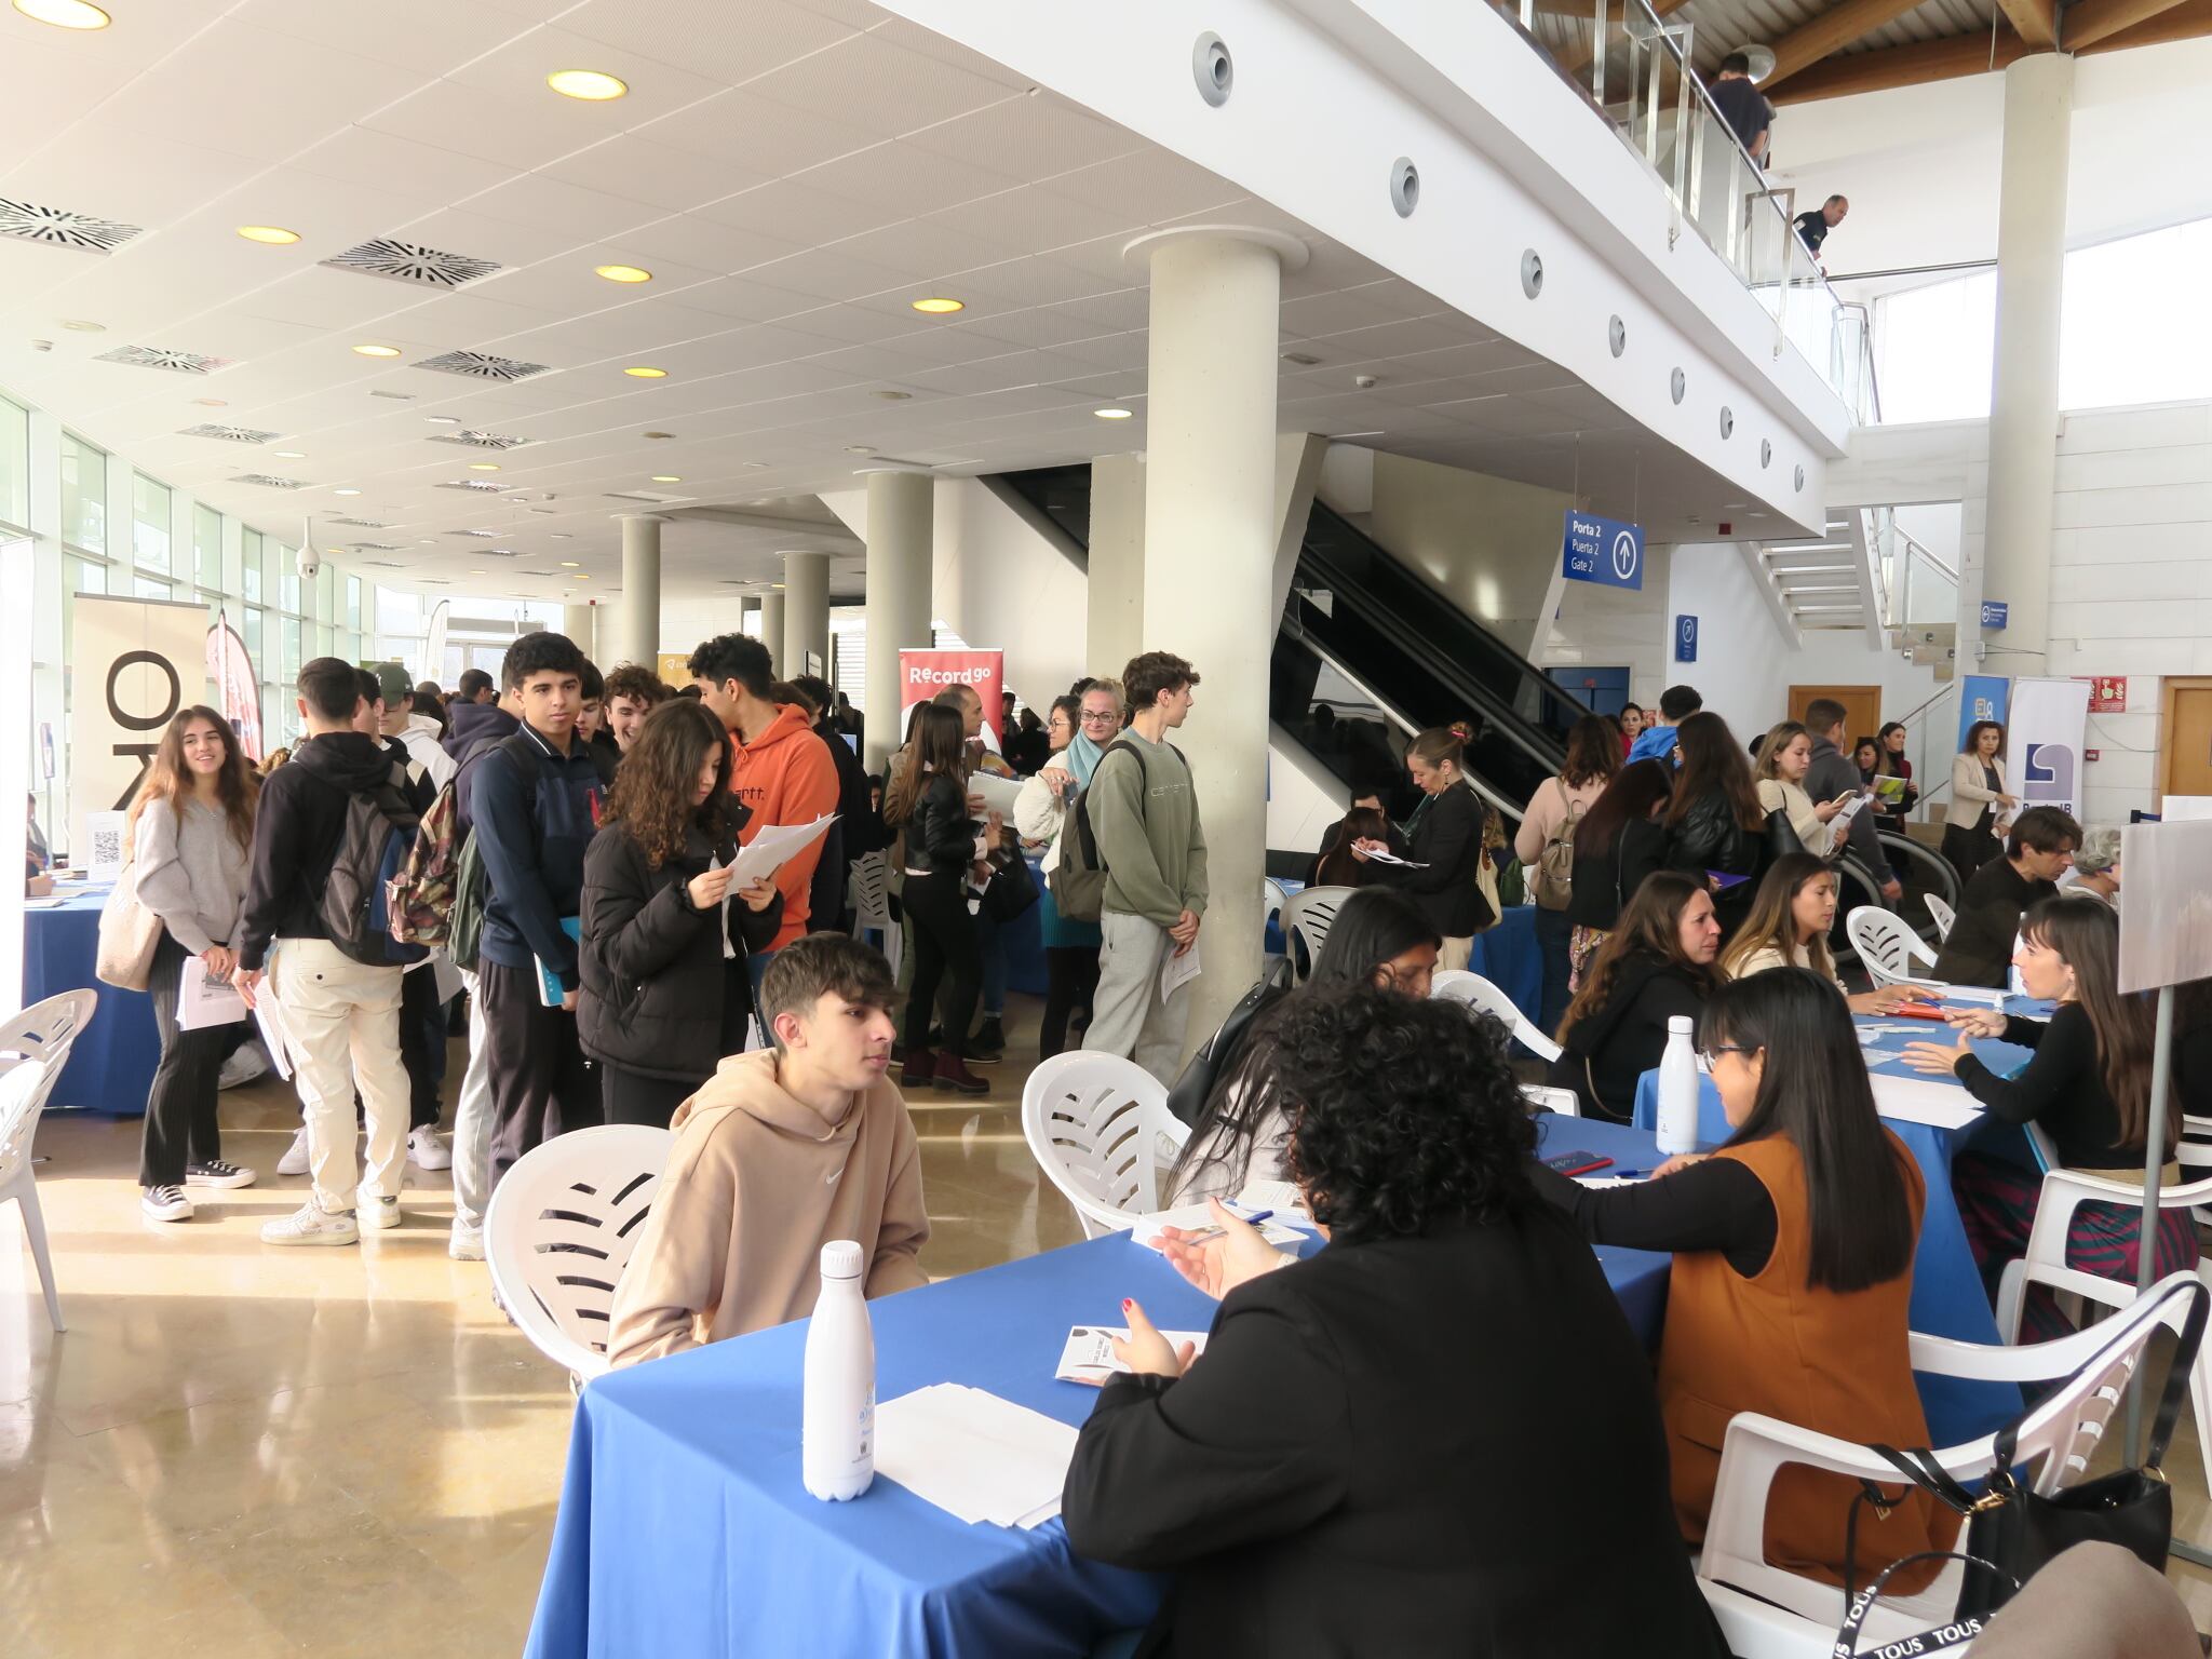
[[[1874,1115],[1849,1015],[1827,980],[1770,969],[1714,991],[1699,1044],[1734,1126],[1717,1152],[1668,1159],[1650,1181],[1619,1188],[1528,1166],[1593,1243],[1674,1252],[1659,1409],[1690,1542],[1705,1535],[1739,1411],[1840,1440],[1927,1444],[1907,1347],[1927,1190]],[[1767,1559],[1865,1584],[1900,1555],[1947,1548],[1931,1540],[1949,1535],[1949,1511],[1907,1489],[1887,1515],[1860,1506],[1854,1564],[1858,1491],[1856,1480],[1783,1469],[1767,1495]]]

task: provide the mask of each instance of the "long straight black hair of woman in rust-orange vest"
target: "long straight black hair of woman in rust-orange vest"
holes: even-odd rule
[[[1723,1044],[1745,1057],[1765,1051],[1752,1115],[1723,1146],[1776,1135],[1796,1146],[1812,1230],[1805,1283],[1851,1292],[1907,1272],[1916,1228],[1905,1152],[1874,1113],[1858,1031],[1836,987],[1794,967],[1734,980],[1705,1002],[1697,1042],[1708,1053]]]

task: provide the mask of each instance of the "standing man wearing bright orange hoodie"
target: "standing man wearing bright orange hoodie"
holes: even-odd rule
[[[730,732],[730,794],[752,814],[737,834],[739,843],[750,843],[770,823],[814,823],[825,812],[836,812],[836,761],[814,734],[807,710],[768,699],[768,688],[776,684],[768,646],[741,633],[714,635],[690,655],[686,668],[699,686],[699,701]],[[776,869],[783,927],[765,951],[752,953],[754,995],[774,953],[807,931],[821,852],[823,843],[814,841]]]

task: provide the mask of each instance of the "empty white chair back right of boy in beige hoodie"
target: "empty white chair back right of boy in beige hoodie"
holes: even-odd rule
[[[1190,1139],[1152,1073],[1121,1055],[1082,1048],[1029,1073],[1022,1135],[1037,1168],[1075,1206],[1086,1239],[1159,1210],[1159,1175]]]

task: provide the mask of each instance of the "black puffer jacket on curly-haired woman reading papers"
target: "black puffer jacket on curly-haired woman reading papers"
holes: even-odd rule
[[[710,847],[690,832],[684,854],[659,869],[622,823],[584,852],[584,989],[575,1020],[584,1053],[644,1077],[706,1079],[745,1046],[752,980],[745,958],[768,949],[783,922],[783,896],[754,914],[730,902],[734,958],[721,953],[721,907],[692,909],[684,891],[714,858],[730,863],[737,843]]]

